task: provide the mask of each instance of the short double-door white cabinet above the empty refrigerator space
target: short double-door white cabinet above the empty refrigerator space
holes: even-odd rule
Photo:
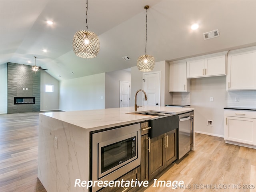
[[[187,78],[226,75],[226,54],[219,52],[187,59]]]

